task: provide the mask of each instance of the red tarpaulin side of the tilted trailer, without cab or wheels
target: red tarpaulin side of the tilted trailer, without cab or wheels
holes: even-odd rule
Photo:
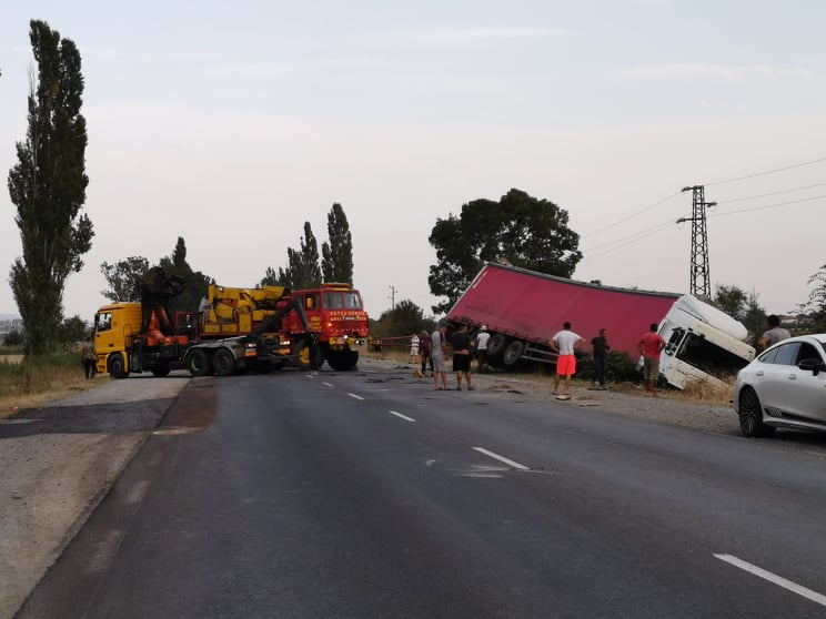
[[[564,322],[588,344],[601,328],[612,351],[636,358],[637,342],[681,295],[615,288],[487,264],[447,313],[447,319],[533,343],[546,343]]]

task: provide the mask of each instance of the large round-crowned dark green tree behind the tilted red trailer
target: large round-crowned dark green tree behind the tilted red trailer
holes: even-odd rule
[[[498,202],[475,200],[459,217],[437,220],[430,243],[439,264],[430,267],[427,283],[431,293],[447,300],[433,312],[450,310],[487,262],[571,277],[582,252],[580,235],[567,224],[567,211],[515,189]]]

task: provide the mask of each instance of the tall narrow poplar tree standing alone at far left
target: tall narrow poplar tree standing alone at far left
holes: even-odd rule
[[[29,89],[26,141],[17,143],[18,163],[8,185],[23,248],[9,283],[31,357],[59,342],[66,281],[82,268],[94,232],[80,212],[89,184],[80,52],[43,21],[31,21],[29,38],[38,74]]]

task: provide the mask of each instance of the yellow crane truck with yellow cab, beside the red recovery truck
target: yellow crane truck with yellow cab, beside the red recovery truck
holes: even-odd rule
[[[270,372],[288,364],[313,369],[320,361],[316,337],[302,304],[289,294],[281,286],[210,286],[197,317],[179,312],[174,321],[163,303],[104,305],[94,315],[98,371],[125,378],[142,372],[167,376],[180,365],[193,376]],[[303,331],[285,336],[286,315]]]

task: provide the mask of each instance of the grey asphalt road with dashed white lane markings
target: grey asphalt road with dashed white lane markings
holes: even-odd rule
[[[198,379],[18,617],[824,617],[825,473],[406,373]]]

